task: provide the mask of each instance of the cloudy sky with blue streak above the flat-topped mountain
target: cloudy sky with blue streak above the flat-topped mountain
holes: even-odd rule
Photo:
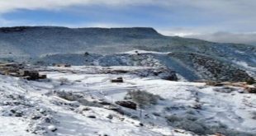
[[[0,26],[154,27],[256,45],[256,0],[0,0]]]

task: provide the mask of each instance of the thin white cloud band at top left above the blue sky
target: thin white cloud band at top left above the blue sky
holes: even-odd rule
[[[17,9],[48,9],[55,10],[62,7],[76,5],[133,5],[133,4],[148,4],[153,0],[2,0],[0,1],[0,12],[12,12]]]

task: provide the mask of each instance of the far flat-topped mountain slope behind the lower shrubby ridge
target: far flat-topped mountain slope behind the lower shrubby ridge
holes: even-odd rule
[[[114,54],[143,49],[159,52],[194,52],[249,59],[255,46],[212,43],[160,35],[153,28],[66,28],[66,27],[8,27],[0,28],[0,54],[28,54],[31,57],[44,54],[84,53]],[[243,54],[245,53],[245,54]],[[244,56],[244,57],[243,57]],[[249,60],[247,60],[249,61]],[[255,63],[255,61],[254,61]]]

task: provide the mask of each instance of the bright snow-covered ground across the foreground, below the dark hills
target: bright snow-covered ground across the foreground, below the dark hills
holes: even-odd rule
[[[97,73],[101,69],[44,68],[49,79],[40,82],[0,75],[0,135],[256,134],[256,95],[242,88]],[[124,82],[110,82],[116,77]],[[137,110],[115,104],[135,90],[161,99]]]

